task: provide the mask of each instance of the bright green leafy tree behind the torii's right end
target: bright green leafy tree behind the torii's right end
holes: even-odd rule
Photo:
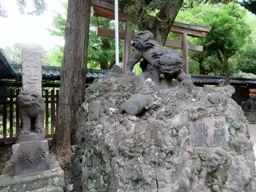
[[[247,11],[239,4],[200,5],[180,12],[177,21],[212,26],[205,38],[188,38],[204,47],[204,52],[190,52],[190,59],[199,63],[201,74],[226,75],[236,72],[234,55],[246,44],[251,33]]]

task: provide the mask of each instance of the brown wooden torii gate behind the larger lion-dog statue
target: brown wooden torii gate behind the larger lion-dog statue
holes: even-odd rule
[[[94,16],[115,19],[115,5],[101,0],[94,0],[91,11]],[[126,70],[126,62],[131,57],[132,39],[134,32],[131,24],[128,22],[127,15],[121,12],[119,8],[119,21],[125,22],[124,30],[119,31],[119,39],[123,39],[123,69]],[[148,15],[149,26],[153,25],[155,17]],[[180,34],[180,41],[167,40],[166,47],[174,47],[181,49],[181,56],[184,58],[184,72],[188,73],[188,52],[187,50],[203,51],[203,46],[194,45],[187,42],[187,35],[194,37],[205,37],[211,30],[211,26],[199,26],[174,22],[170,31]],[[97,27],[97,35],[115,38],[115,30]]]

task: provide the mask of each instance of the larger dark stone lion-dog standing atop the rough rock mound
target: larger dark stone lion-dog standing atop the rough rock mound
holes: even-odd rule
[[[127,62],[127,73],[132,73],[134,66],[140,63],[143,73],[149,73],[156,85],[160,84],[160,74],[168,80],[191,80],[190,75],[183,71],[184,60],[175,50],[164,48],[150,31],[139,31],[132,42],[133,55]],[[192,82],[192,80],[191,80]]]

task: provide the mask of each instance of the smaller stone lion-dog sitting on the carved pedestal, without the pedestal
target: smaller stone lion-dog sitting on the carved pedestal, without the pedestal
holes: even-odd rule
[[[45,102],[35,91],[24,90],[18,95],[19,115],[22,122],[20,135],[44,133]]]

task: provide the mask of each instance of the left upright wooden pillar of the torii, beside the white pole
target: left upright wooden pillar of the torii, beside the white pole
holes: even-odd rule
[[[133,29],[129,22],[124,24],[124,41],[123,41],[123,70],[126,71],[126,63],[132,54]]]

